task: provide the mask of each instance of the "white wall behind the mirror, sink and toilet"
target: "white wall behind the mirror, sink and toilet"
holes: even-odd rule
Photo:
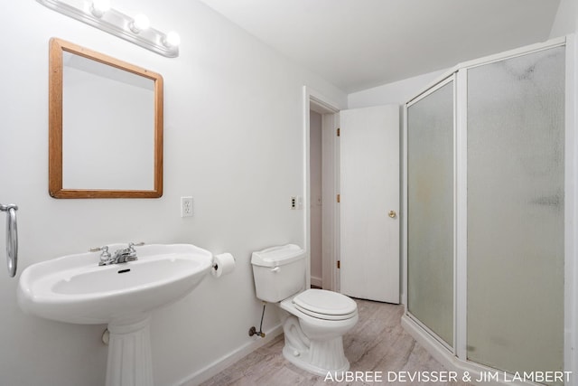
[[[154,383],[177,384],[259,338],[250,253],[303,244],[303,84],[346,105],[339,89],[267,48],[197,1],[117,0],[182,36],[167,59],[32,0],[0,13],[5,36],[0,90],[0,202],[20,206],[19,273],[63,254],[111,242],[188,242],[237,257],[237,269],[153,315]],[[164,77],[164,194],[160,199],[55,200],[48,194],[48,40],[86,46]],[[89,117],[88,117],[89,119]],[[194,197],[182,219],[179,198]],[[0,259],[5,259],[0,216]],[[96,263],[96,262],[95,262]],[[2,263],[4,265],[4,263]],[[0,271],[0,384],[101,385],[105,325],[68,325],[23,312],[18,278]],[[267,308],[264,329],[277,324]]]

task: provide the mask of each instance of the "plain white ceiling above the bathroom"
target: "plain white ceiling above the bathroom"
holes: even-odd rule
[[[346,92],[547,40],[560,0],[200,0]]]

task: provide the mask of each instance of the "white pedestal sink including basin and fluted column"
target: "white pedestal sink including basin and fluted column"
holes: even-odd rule
[[[190,244],[136,251],[137,260],[107,266],[98,266],[98,252],[42,261],[24,269],[19,281],[18,303],[28,314],[108,325],[107,386],[153,386],[151,312],[186,296],[211,268],[211,253]]]

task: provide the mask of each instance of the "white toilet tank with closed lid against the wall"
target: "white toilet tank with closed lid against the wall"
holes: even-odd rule
[[[294,244],[253,252],[251,264],[261,300],[277,303],[305,287],[305,251]]]

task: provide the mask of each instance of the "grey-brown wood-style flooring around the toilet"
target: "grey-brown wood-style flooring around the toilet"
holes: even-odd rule
[[[403,306],[356,299],[359,322],[343,336],[350,372],[381,372],[381,381],[325,381],[294,366],[283,357],[284,337],[233,363],[201,386],[328,386],[328,385],[468,385],[465,382],[388,381],[387,372],[445,372],[425,349],[400,325]]]

